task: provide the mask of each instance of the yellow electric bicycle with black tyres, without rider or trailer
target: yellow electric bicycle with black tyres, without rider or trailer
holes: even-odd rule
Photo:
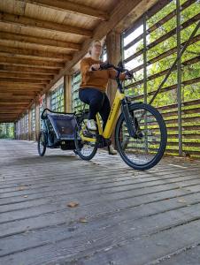
[[[117,71],[118,89],[104,131],[99,114],[96,115],[97,132],[88,131],[88,111],[83,110],[77,118],[74,133],[76,154],[83,160],[90,160],[96,155],[97,148],[109,147],[117,120],[115,145],[119,155],[135,170],[148,170],[160,161],[165,152],[167,133],[164,119],[154,107],[142,102],[131,102],[124,94],[124,88],[119,80],[120,72],[127,72],[123,66],[101,65],[101,70],[109,68]],[[131,79],[132,74],[127,74]]]

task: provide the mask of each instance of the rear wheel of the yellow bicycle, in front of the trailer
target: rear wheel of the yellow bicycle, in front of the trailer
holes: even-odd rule
[[[81,133],[85,130],[86,125],[84,120],[79,121],[75,128],[74,143],[77,155],[83,160],[90,160],[96,155],[97,142],[81,140]]]

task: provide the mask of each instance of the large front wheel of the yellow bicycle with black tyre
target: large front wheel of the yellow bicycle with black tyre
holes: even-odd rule
[[[134,103],[130,106],[136,136],[127,132],[124,114],[116,125],[116,146],[125,163],[135,170],[148,170],[155,166],[165,152],[167,133],[161,114],[152,106]]]

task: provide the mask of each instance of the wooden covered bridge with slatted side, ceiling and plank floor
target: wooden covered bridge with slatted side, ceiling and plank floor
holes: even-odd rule
[[[14,128],[0,140],[0,264],[200,264],[199,19],[196,0],[0,0],[0,126]],[[134,72],[127,95],[165,119],[151,170],[106,150],[37,154],[42,110],[82,108],[93,40]]]

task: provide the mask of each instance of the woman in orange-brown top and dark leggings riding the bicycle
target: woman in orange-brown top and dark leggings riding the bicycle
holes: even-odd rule
[[[100,56],[102,53],[101,42],[93,41],[88,49],[90,57],[81,60],[81,87],[79,97],[81,102],[89,105],[87,127],[90,131],[96,131],[96,113],[102,117],[103,129],[111,111],[111,105],[105,94],[108,80],[115,79],[117,72],[114,69],[100,70]],[[119,75],[119,79],[124,80],[125,73]],[[116,155],[116,150],[109,147],[109,154]]]

